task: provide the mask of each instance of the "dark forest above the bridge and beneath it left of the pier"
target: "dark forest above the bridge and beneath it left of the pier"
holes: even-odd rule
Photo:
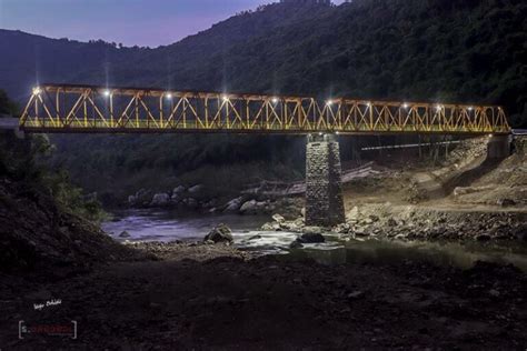
[[[355,0],[339,7],[269,4],[157,49],[0,32],[0,44],[14,48],[0,57],[0,86],[22,96],[34,82],[37,61],[39,81],[499,103],[515,127],[527,127],[526,18],[520,0]],[[291,168],[290,177],[301,173],[301,140],[54,140],[59,161],[90,190],[165,185],[159,179],[212,181],[210,174],[216,180],[223,172],[220,164],[227,168],[222,179],[235,183],[239,178],[228,174],[239,168],[232,172],[232,164],[250,164],[243,180],[262,169],[262,177],[284,177]]]

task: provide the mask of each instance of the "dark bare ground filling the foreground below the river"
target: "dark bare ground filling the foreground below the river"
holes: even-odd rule
[[[170,244],[157,259],[0,275],[2,350],[525,350],[527,278],[411,261],[321,265]],[[34,303],[61,303],[34,309]],[[78,339],[19,321],[76,320]]]

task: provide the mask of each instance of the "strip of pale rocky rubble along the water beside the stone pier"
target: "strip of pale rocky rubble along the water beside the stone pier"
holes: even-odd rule
[[[362,204],[347,213],[346,223],[334,228],[305,227],[304,219],[276,214],[267,231],[335,232],[342,240],[519,240],[527,241],[527,212],[428,209],[416,205]]]

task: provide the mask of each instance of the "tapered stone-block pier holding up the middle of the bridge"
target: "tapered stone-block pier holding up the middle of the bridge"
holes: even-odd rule
[[[308,136],[306,151],[306,225],[346,221],[339,143],[332,134]]]

